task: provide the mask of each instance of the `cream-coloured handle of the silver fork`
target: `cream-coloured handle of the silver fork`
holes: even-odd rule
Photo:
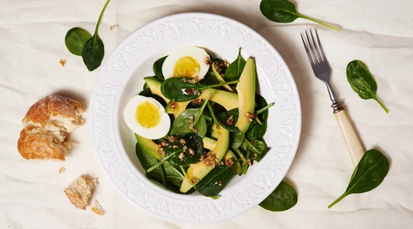
[[[344,142],[346,142],[346,146],[348,149],[348,153],[350,153],[351,160],[354,166],[357,166],[365,152],[363,146],[361,145],[359,137],[357,136],[356,131],[354,131],[350,119],[348,118],[346,111],[344,109],[334,113],[334,116],[337,120],[337,123],[339,124],[341,134],[344,138]]]

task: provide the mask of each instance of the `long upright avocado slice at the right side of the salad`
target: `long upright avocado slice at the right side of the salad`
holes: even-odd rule
[[[235,127],[242,132],[246,132],[254,118],[255,107],[255,63],[251,57],[248,57],[244,70],[240,76],[240,83],[236,89],[238,91],[238,118]]]

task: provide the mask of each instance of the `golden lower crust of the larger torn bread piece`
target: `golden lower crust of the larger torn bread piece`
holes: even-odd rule
[[[50,138],[52,137],[47,134],[47,131],[31,134],[28,129],[23,129],[20,132],[17,149],[25,159],[57,159],[64,161],[65,149],[55,144]]]

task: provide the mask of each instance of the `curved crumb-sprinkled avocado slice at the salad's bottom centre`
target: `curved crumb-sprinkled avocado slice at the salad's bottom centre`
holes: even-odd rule
[[[213,126],[213,130],[217,133],[218,140],[215,149],[213,149],[211,153],[215,153],[215,158],[217,158],[218,163],[220,163],[229,148],[229,131],[223,127],[218,129],[215,125]],[[200,182],[212,169],[211,166],[207,166],[204,162],[191,164],[180,187],[180,192],[187,193],[187,191]]]

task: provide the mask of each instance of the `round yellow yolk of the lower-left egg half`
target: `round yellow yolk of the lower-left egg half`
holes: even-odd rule
[[[136,121],[145,128],[156,127],[160,121],[158,107],[151,102],[141,102],[136,108]]]

